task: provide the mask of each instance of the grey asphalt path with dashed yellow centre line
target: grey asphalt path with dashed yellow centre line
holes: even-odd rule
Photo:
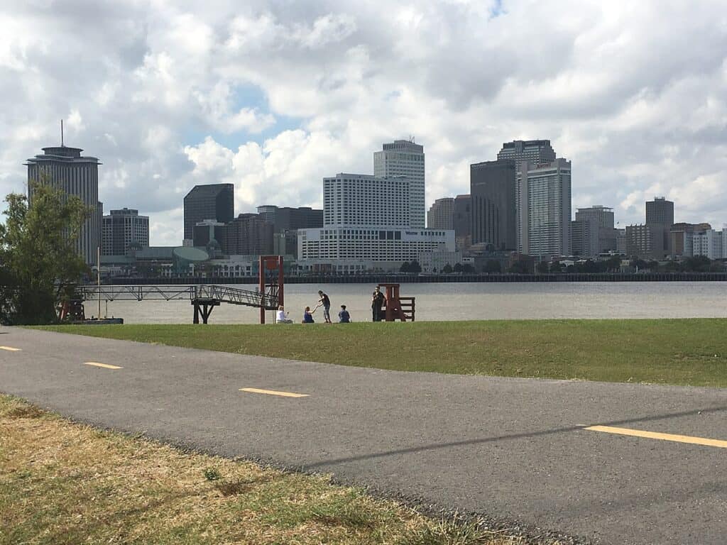
[[[73,419],[603,544],[727,542],[727,448],[585,429],[727,440],[726,389],[379,371],[17,328],[0,328],[0,346],[21,349],[0,350],[0,391]]]

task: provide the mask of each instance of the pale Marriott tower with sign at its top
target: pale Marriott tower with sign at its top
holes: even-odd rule
[[[539,260],[571,253],[571,161],[521,163],[520,251]]]

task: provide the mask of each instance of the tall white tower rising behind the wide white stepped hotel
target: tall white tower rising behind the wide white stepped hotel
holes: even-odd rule
[[[406,177],[411,180],[409,218],[411,227],[424,227],[426,217],[424,146],[409,140],[394,140],[374,152],[374,176]],[[324,207],[325,208],[325,207]]]

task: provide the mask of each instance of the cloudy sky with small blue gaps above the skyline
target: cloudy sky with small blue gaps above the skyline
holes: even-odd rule
[[[469,164],[544,138],[573,206],[727,222],[723,0],[0,0],[0,193],[60,142],[103,161],[105,210],[182,238],[182,198],[233,182],[236,213],[321,206],[382,142],[427,154],[427,206]]]

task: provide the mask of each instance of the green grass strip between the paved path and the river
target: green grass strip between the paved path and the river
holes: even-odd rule
[[[725,319],[44,329],[401,371],[727,387]]]

